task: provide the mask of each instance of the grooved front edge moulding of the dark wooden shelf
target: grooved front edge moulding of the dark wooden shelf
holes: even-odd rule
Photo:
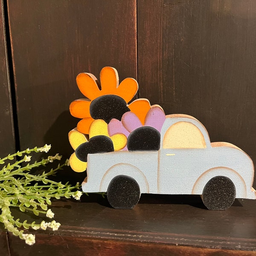
[[[226,238],[187,234],[153,233],[134,230],[106,230],[85,227],[61,226],[63,236],[78,236],[88,239],[111,239],[117,241],[155,243],[179,246],[206,247],[224,250],[256,250],[256,239]]]

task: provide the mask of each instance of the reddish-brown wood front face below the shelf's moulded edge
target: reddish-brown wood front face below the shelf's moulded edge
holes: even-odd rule
[[[55,256],[73,256],[74,252],[77,255],[91,255],[91,256],[250,256],[256,255],[253,251],[242,250],[222,250],[198,248],[190,246],[176,246],[167,244],[148,244],[136,242],[123,242],[111,240],[96,240],[87,239],[84,237],[71,236],[46,236],[39,235],[36,245],[29,247],[24,246],[22,241],[17,237],[11,236],[11,255],[19,256],[34,256],[40,252],[42,255],[51,255],[54,251]],[[15,244],[15,245],[14,245]],[[24,249],[25,248],[25,249]],[[18,254],[17,254],[18,253]]]

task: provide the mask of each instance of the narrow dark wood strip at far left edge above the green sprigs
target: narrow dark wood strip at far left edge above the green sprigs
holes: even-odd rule
[[[3,0],[0,1],[0,158],[15,151]]]

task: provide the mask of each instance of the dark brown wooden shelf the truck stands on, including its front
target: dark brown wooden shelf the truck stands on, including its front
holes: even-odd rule
[[[256,254],[253,200],[236,199],[226,211],[209,211],[200,196],[142,195],[134,209],[123,210],[109,207],[101,195],[83,195],[81,202],[56,201],[51,209],[61,222],[58,231],[38,230],[36,244],[28,246],[10,234],[7,242],[2,228],[2,251],[9,244],[11,256]]]

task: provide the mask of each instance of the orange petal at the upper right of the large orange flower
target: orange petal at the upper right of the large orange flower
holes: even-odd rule
[[[126,78],[119,84],[119,87],[116,89],[116,95],[122,97],[126,103],[128,103],[134,95],[137,93],[138,83],[133,78]]]

